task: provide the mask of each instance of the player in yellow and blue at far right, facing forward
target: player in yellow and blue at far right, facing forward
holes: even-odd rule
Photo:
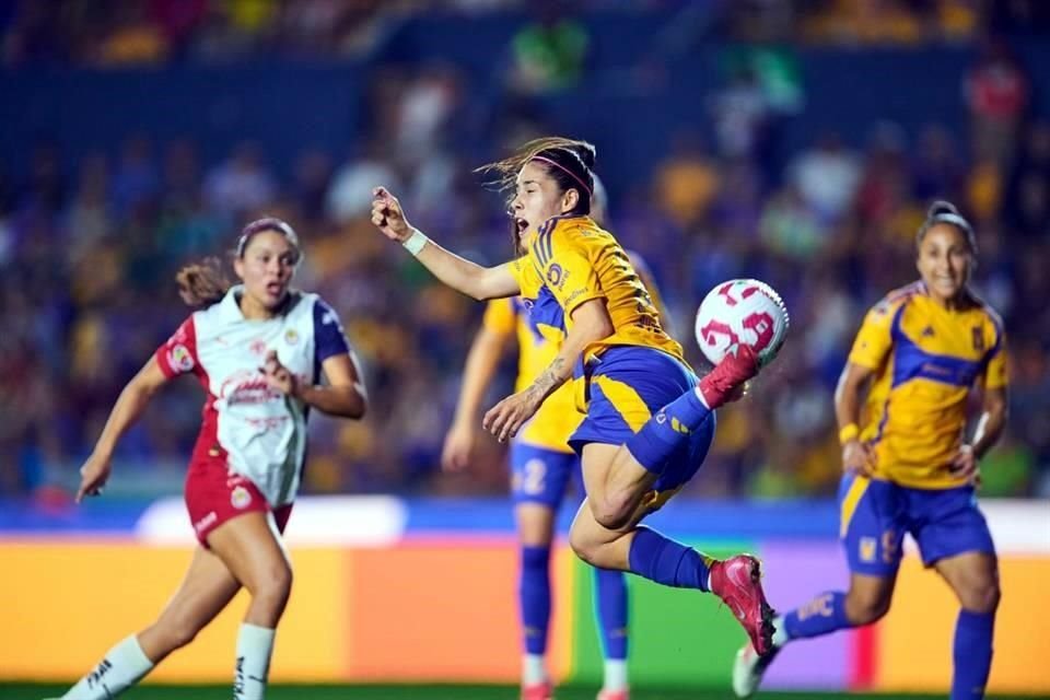
[[[778,617],[774,649],[737,654],[733,687],[751,695],[791,640],[875,622],[889,610],[910,533],[922,562],[955,592],[952,699],[984,696],[999,606],[995,547],[977,506],[978,462],[1006,423],[1006,350],[999,315],[969,288],[977,240],[936,202],[917,236],[921,281],[891,292],[864,319],[835,397],[844,476],[840,535],[850,590]],[[966,439],[967,405],[982,412]],[[863,406],[863,410],[862,410]]]

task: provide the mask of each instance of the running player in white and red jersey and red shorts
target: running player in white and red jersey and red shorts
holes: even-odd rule
[[[316,294],[290,289],[302,259],[285,222],[261,219],[237,242],[231,287],[218,265],[178,275],[199,307],[128,383],[81,468],[77,500],[97,495],[117,442],[153,394],[182,374],[207,392],[186,476],[186,506],[200,546],[155,622],[109,650],[65,696],[106,700],[188,644],[242,586],[252,602],[237,634],[233,697],[265,696],[277,625],[292,586],[281,541],[299,490],[311,408],[360,418],[361,370],[336,313]],[[320,385],[322,374],[327,385]]]

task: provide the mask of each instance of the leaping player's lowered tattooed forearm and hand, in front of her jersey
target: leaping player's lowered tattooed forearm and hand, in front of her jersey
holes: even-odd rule
[[[603,299],[580,304],[572,312],[572,329],[561,343],[558,355],[542,374],[528,388],[506,397],[485,415],[482,427],[500,442],[516,435],[544,400],[572,376],[572,370],[587,346],[616,331]]]

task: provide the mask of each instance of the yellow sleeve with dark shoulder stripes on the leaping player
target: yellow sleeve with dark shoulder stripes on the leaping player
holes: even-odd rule
[[[557,223],[558,220],[552,219],[540,230],[530,255],[547,289],[565,316],[571,317],[578,306],[593,299],[605,299],[605,293],[585,244],[579,236],[568,235]]]

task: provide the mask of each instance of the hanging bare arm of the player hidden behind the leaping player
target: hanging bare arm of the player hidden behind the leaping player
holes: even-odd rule
[[[505,304],[506,302],[497,303]],[[463,384],[459,387],[456,415],[441,451],[441,466],[446,471],[459,471],[470,464],[481,400],[489,384],[492,383],[510,337],[509,334],[497,332],[485,327],[480,328],[474,337],[463,369]]]

